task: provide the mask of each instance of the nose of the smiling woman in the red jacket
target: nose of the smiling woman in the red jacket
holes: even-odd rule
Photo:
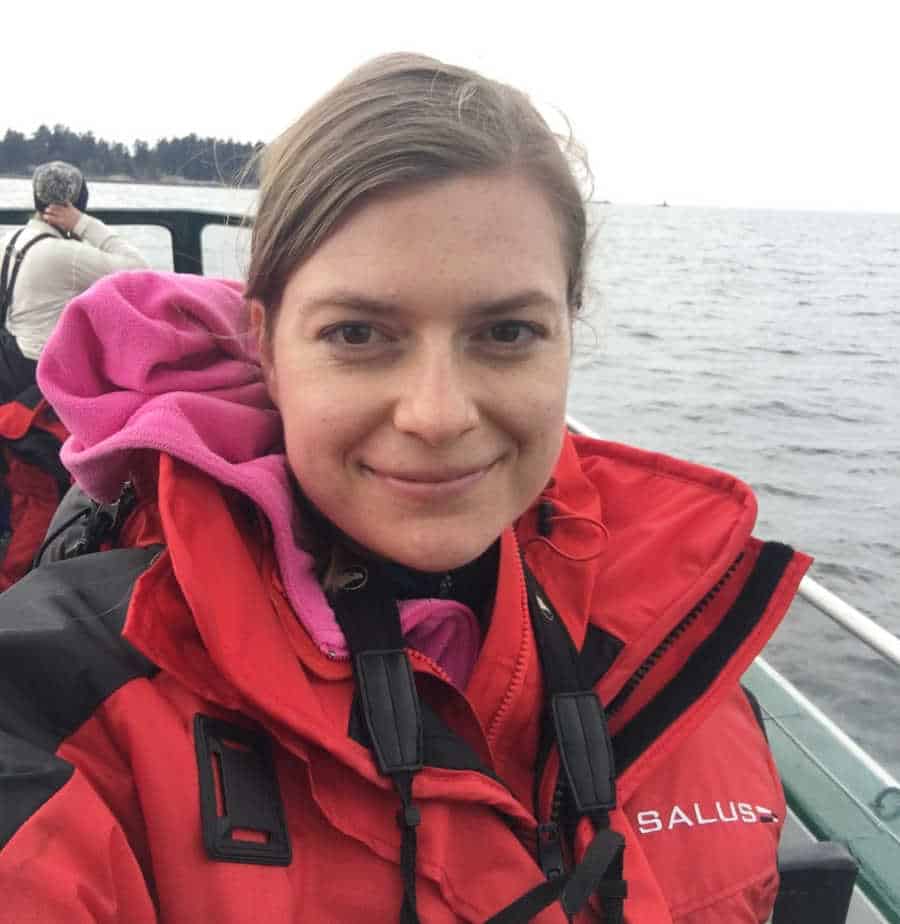
[[[411,358],[394,405],[394,426],[430,446],[453,442],[479,423],[475,382],[446,345]]]

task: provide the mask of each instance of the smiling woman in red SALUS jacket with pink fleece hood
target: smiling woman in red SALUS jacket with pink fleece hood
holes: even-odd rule
[[[263,166],[244,293],[121,275],[42,359],[78,483],[136,499],[2,598],[0,921],[767,919],[738,681],[808,559],[734,478],[565,435],[556,139],[397,55]]]

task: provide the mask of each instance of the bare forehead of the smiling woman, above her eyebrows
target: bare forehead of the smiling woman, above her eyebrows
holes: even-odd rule
[[[477,175],[366,201],[294,270],[285,296],[316,298],[340,284],[384,299],[528,288],[564,301],[566,276],[560,222],[542,190],[517,174]]]

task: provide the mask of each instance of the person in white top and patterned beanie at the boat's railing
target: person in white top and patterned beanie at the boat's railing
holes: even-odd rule
[[[34,217],[0,239],[0,402],[34,384],[47,338],[68,302],[108,273],[147,261],[102,221],[85,214],[87,182],[55,160],[34,171]]]

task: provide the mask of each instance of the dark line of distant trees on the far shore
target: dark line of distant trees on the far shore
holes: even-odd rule
[[[87,177],[234,183],[260,146],[261,142],[223,141],[192,133],[163,138],[152,147],[137,140],[128,148],[119,141],[95,138],[93,132],[78,134],[65,125],[52,129],[41,125],[30,138],[7,129],[0,141],[0,174],[31,176],[38,164],[65,160]]]

